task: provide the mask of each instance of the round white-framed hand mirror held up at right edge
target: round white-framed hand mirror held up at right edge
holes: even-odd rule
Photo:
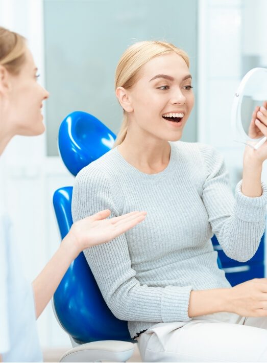
[[[235,93],[231,115],[235,141],[258,149],[267,140],[254,124],[256,111],[266,100],[267,69],[254,68],[244,76]]]

